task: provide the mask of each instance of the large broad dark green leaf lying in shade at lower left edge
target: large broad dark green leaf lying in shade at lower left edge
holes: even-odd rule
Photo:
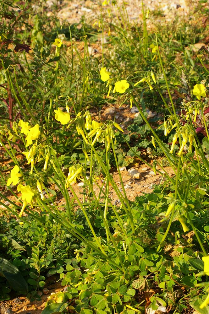
[[[0,257],[0,276],[5,277],[15,291],[28,292],[28,285],[19,269],[2,257]]]

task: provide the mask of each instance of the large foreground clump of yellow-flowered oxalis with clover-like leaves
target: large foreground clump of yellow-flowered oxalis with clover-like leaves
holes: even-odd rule
[[[144,28],[145,20],[144,13]],[[145,52],[148,47],[146,36],[145,29]],[[14,165],[9,177],[5,179],[1,174],[1,178],[16,200],[12,201],[1,193],[1,199],[10,204],[5,205],[1,201],[1,205],[18,217],[20,226],[28,223],[25,214],[43,225],[43,217],[50,214],[54,223],[63,226],[79,243],[74,250],[75,256],[70,256],[65,261],[65,270],[51,270],[51,273],[60,274],[62,285],[67,285],[67,288],[61,293],[51,295],[43,312],[63,312],[67,307],[76,313],[88,314],[144,312],[144,299],[138,301],[136,291],[153,291],[153,295],[149,295],[146,300],[146,307],[150,306],[152,309],[161,305],[168,310],[174,309],[173,313],[180,313],[186,308],[186,301],[190,298],[192,307],[198,311],[207,311],[209,284],[206,276],[209,273],[209,256],[208,160],[205,155],[208,147],[206,82],[197,82],[190,91],[184,81],[184,88],[190,96],[193,95],[194,100],[191,97],[190,101],[183,101],[182,111],[177,113],[160,56],[157,33],[156,42],[151,43],[150,48],[162,68],[169,104],[157,82],[157,73],[146,71],[135,82],[119,77],[118,73],[108,71],[108,65],[102,64],[100,78],[106,84],[107,97],[125,95],[130,106],[134,103],[150,128],[153,147],[161,148],[174,172],[174,176],[170,178],[160,162],[156,161],[152,165],[153,171],[162,175],[164,171],[167,184],[131,203],[126,196],[115,153],[117,138],[114,129],[121,133],[123,129],[116,122],[98,122],[89,111],[76,110],[73,105],[73,110],[70,110],[69,102],[72,104],[72,100],[67,97],[66,106],[58,106],[59,56],[63,43],[59,38],[53,43],[57,57],[54,60],[55,90],[44,116],[47,127],[26,106],[27,101],[19,89],[21,100],[31,118],[22,109],[22,119],[17,118],[12,123],[12,128],[6,125],[1,127],[0,140]],[[202,61],[201,58],[200,56]],[[203,62],[202,64],[204,65]],[[5,69],[5,73],[10,84],[9,90],[16,95],[9,69]],[[84,75],[82,100],[85,99],[86,82]],[[17,81],[16,84],[18,85]],[[140,84],[148,84],[150,90],[156,89],[162,98],[168,111],[164,121],[164,133],[165,136],[173,134],[170,149],[157,136],[145,111],[141,110],[135,99],[134,91]],[[21,105],[20,98],[17,95],[15,98]],[[82,162],[74,162],[67,171],[46,131],[51,122],[57,123],[63,134],[70,132],[75,139],[73,148],[80,147],[84,156]],[[204,136],[205,149],[198,136],[200,133]],[[56,140],[57,146],[67,146],[69,143],[69,138],[60,137]],[[15,144],[21,148],[24,163],[17,157]],[[127,145],[135,153],[129,143]],[[114,159],[117,167],[122,191],[110,173],[110,158]],[[138,158],[141,159],[140,156]],[[23,166],[25,164],[29,168]],[[102,172],[100,184],[96,178],[98,166]],[[78,179],[84,183],[84,192],[80,197],[74,191],[74,183]],[[53,189],[55,185],[58,192]],[[95,194],[94,185],[99,188],[98,195]],[[117,194],[119,206],[112,204],[109,185],[112,185]],[[74,197],[74,204],[69,197],[69,191]],[[64,199],[67,218],[62,214],[63,207],[56,203],[58,193]],[[172,253],[169,253],[171,250]],[[37,252],[38,247],[37,250],[33,249],[31,260],[40,279],[44,264],[42,258],[38,258]],[[40,287],[42,284],[44,283],[41,282]],[[198,296],[197,292],[200,292]]]

